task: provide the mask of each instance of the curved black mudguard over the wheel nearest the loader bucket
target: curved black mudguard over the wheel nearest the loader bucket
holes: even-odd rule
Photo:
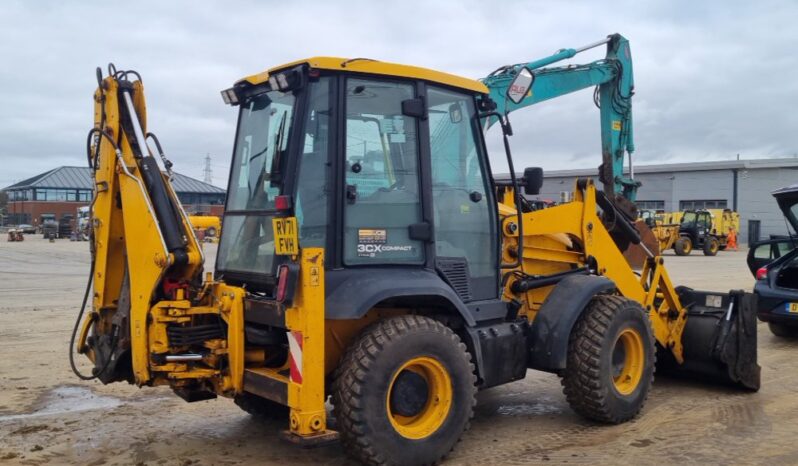
[[[577,319],[593,296],[614,289],[612,280],[597,275],[572,275],[562,279],[532,321],[529,367],[546,372],[564,370],[568,340]]]

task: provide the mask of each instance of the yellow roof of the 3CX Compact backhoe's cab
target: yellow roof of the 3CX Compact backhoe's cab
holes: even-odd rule
[[[479,81],[464,78],[441,71],[430,70],[418,66],[399,65],[369,58],[336,58],[336,57],[311,57],[304,60],[297,60],[284,65],[276,66],[258,74],[247,76],[239,82],[246,81],[252,85],[264,83],[269,80],[270,74],[291,68],[303,63],[307,63],[311,68],[322,70],[344,71],[350,73],[368,73],[383,76],[399,76],[402,78],[421,79],[447,86],[467,89],[482,94],[488,93],[488,88]]]

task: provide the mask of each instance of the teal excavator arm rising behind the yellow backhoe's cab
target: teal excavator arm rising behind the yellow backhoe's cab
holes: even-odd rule
[[[607,55],[584,65],[569,65],[545,68],[545,66],[573,58],[576,54],[607,44]],[[515,75],[523,68],[534,74],[534,81],[527,96],[519,103],[507,98],[507,90]],[[490,90],[496,103],[496,111],[508,114],[520,108],[535,105],[545,100],[596,86],[594,102],[601,110],[601,155],[599,179],[604,192],[610,198],[620,194],[629,201],[635,200],[639,183],[633,180],[632,152],[632,56],[629,41],[620,34],[576,49],[562,49],[557,53],[528,63],[503,66],[482,82]],[[488,125],[496,119],[489,120]],[[624,176],[624,156],[629,153],[630,176]]]

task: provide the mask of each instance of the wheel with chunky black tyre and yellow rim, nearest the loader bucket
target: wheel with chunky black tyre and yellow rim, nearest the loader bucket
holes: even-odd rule
[[[655,360],[651,323],[642,306],[619,296],[596,296],[571,332],[565,397],[588,419],[628,421],[643,408]]]

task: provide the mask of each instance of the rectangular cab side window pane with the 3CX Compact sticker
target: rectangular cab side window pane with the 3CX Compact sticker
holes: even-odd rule
[[[345,265],[422,265],[418,121],[402,112],[415,84],[346,79]]]

